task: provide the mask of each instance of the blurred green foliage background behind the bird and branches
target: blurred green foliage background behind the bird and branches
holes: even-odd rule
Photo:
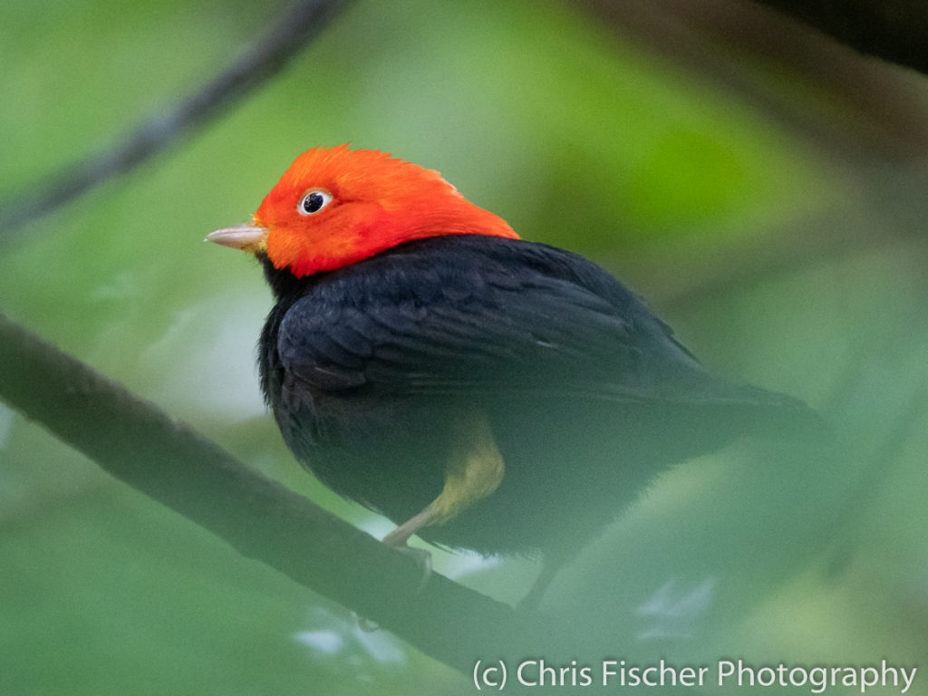
[[[222,118],[0,232],[0,310],[385,534],[280,444],[254,367],[269,290],[202,238],[306,148],[393,152],[839,436],[827,462],[734,447],[655,485],[546,601],[582,657],[928,668],[928,78],[748,3],[619,5],[356,2]],[[0,210],[169,113],[283,7],[2,4]],[[537,572],[435,565],[505,601]],[[471,690],[0,405],[0,693]]]

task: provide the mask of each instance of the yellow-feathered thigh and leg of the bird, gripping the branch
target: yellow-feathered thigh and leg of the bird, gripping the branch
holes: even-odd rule
[[[496,447],[490,423],[473,414],[458,425],[451,458],[445,468],[441,494],[418,514],[383,537],[383,543],[405,547],[422,527],[444,524],[478,500],[490,496],[503,480],[503,456]]]

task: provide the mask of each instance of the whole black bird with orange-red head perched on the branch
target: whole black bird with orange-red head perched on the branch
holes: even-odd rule
[[[814,420],[703,367],[599,265],[387,152],[309,149],[207,239],[273,290],[260,382],[295,458],[393,521],[387,544],[540,556],[532,601],[665,471]]]

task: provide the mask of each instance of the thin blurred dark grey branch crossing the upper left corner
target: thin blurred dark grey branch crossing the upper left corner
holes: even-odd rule
[[[172,112],[142,124],[115,147],[91,155],[53,174],[50,181],[44,178],[41,184],[12,197],[17,202],[3,206],[6,210],[0,213],[0,230],[8,235],[37,217],[55,212],[221,115],[276,75],[345,4],[346,0],[304,0],[292,6],[245,55]]]

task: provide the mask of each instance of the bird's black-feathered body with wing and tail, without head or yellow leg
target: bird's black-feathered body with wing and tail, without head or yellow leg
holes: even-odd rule
[[[805,406],[707,373],[625,286],[569,251],[445,236],[297,279],[277,304],[262,386],[297,458],[405,522],[437,496],[458,424],[485,417],[496,493],[421,535],[482,552],[557,548],[661,470]]]

